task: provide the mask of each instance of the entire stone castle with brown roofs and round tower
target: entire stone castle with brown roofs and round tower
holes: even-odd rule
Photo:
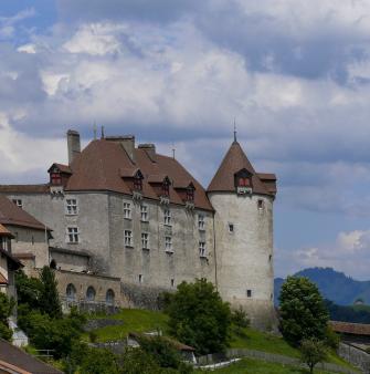
[[[175,157],[136,146],[134,136],[102,137],[81,150],[80,134],[68,131],[67,148],[68,165],[52,164],[47,184],[0,186],[51,230],[43,256],[33,245],[18,249],[15,239],[23,263],[33,256],[32,267],[64,272],[60,293],[68,300],[105,292],[135,307],[207,278],[254,325],[272,323],[276,177],[256,173],[236,138],[207,190]]]

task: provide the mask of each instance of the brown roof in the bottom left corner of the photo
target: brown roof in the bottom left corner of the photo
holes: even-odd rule
[[[62,374],[44,362],[31,356],[21,349],[10,344],[0,337],[0,362],[14,365],[32,374]],[[11,372],[12,373],[12,372]],[[15,372],[17,373],[17,372]]]

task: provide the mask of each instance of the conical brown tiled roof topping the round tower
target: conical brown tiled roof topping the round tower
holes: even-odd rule
[[[218,172],[211,180],[208,193],[234,193],[235,191],[235,174],[246,169],[252,175],[253,193],[261,195],[275,195],[271,187],[266,185],[265,177],[260,178],[247,159],[241,145],[234,141],[230,146],[225,157],[223,158]],[[267,176],[267,175],[264,175]],[[263,179],[263,180],[262,180]],[[276,180],[274,175],[268,175],[268,179]]]

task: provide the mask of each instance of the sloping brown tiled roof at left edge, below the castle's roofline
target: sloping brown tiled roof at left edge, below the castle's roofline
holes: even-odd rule
[[[43,224],[2,195],[0,195],[0,224],[45,230]]]

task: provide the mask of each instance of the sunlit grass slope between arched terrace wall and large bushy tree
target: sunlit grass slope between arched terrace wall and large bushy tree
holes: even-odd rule
[[[123,309],[118,314],[109,318],[121,320],[124,324],[95,330],[98,342],[121,340],[129,332],[145,332],[158,329],[166,334],[168,316],[160,312],[141,309]]]

